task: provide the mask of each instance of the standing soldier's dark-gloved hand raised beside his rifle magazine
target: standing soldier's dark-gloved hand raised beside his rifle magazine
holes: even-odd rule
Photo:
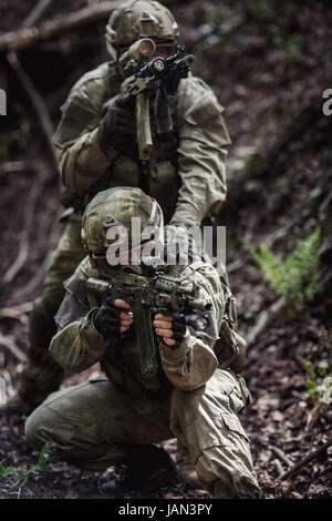
[[[98,125],[98,142],[106,156],[116,149],[124,136],[136,136],[134,100],[117,94],[104,104],[104,116]]]

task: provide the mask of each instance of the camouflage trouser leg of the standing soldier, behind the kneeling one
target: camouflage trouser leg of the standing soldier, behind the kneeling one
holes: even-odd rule
[[[81,216],[70,217],[53,253],[43,293],[31,313],[28,357],[18,388],[19,397],[30,410],[59,389],[63,379],[63,369],[49,355],[49,346],[56,333],[53,317],[64,298],[63,283],[86,255],[81,242]]]

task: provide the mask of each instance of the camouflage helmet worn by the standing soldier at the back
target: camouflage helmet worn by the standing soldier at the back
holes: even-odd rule
[[[156,43],[174,42],[179,35],[178,25],[170,11],[154,0],[131,0],[115,9],[106,25],[106,47],[129,47],[141,37],[149,37]]]

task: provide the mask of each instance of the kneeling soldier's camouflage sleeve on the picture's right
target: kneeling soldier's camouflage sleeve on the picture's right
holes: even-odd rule
[[[200,297],[208,297],[212,304],[211,318],[218,334],[225,309],[225,296],[218,274],[211,266],[205,265],[191,276],[200,285]],[[187,328],[177,349],[159,344],[165,375],[177,389],[198,389],[211,378],[218,367],[214,353],[216,340],[217,338],[206,334],[194,336]]]

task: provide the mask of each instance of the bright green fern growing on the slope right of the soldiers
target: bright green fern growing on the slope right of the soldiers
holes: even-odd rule
[[[245,239],[241,241],[259,265],[266,282],[278,296],[287,296],[291,307],[297,308],[304,302],[310,302],[320,289],[319,226],[305,239],[300,241],[284,260],[263,243],[256,249]]]

